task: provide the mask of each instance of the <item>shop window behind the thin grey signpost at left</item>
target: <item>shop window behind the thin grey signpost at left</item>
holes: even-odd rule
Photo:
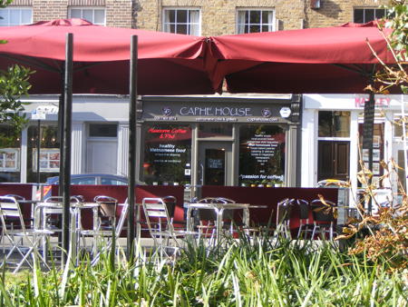
[[[40,132],[37,126],[28,128],[27,146],[27,181],[37,181],[38,137],[41,139],[40,147],[40,181],[57,176],[60,173],[60,142],[58,140],[58,127],[42,125]]]

